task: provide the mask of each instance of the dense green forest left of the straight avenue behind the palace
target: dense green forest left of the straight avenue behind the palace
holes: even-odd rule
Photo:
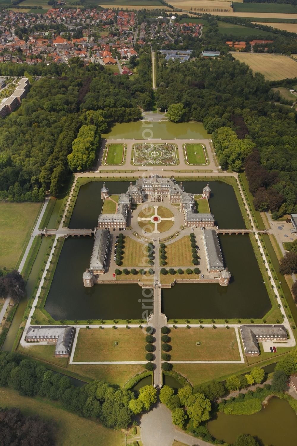
[[[3,75],[45,77],[33,83],[17,111],[0,118],[0,199],[43,201],[46,191],[59,193],[70,171],[90,168],[101,132],[111,122],[138,120],[138,106],[152,99],[149,54],[140,55],[137,63],[140,75],[133,81],[76,60],[70,66],[1,64]],[[84,124],[89,136],[96,127],[87,151],[77,139]],[[86,136],[86,129],[81,132]]]

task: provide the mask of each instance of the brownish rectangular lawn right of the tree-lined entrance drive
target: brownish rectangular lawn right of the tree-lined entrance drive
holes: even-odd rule
[[[173,361],[240,361],[234,329],[178,328],[170,337]]]

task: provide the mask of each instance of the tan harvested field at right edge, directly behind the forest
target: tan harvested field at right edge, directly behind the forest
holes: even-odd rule
[[[245,62],[254,73],[264,74],[269,81],[294,78],[297,75],[297,62],[284,55],[232,52],[232,56]]]

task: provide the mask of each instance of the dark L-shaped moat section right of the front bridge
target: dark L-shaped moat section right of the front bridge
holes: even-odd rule
[[[271,308],[248,235],[220,235],[227,287],[216,283],[177,284],[162,290],[162,311],[174,318],[261,318]]]

